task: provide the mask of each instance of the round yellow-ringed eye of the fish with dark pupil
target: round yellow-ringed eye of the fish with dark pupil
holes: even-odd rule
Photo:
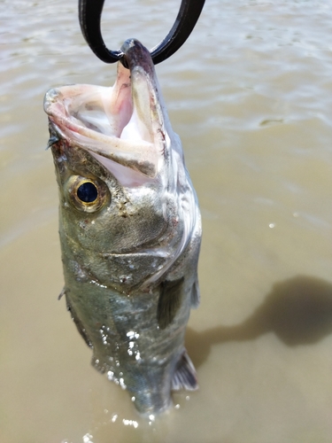
[[[71,176],[66,183],[66,189],[73,206],[87,213],[96,212],[110,197],[104,182],[81,175]]]

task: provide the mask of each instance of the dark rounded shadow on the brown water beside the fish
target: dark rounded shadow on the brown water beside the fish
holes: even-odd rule
[[[211,346],[244,341],[274,332],[287,346],[310,345],[332,332],[332,284],[313,276],[296,276],[274,284],[264,302],[243,323],[197,332],[187,329],[186,348],[196,367]]]

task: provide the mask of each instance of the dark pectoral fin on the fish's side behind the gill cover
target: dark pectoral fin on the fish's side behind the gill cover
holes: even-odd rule
[[[157,321],[160,329],[173,322],[181,305],[181,293],[184,277],[178,280],[165,280],[160,284],[160,294],[157,307]]]

